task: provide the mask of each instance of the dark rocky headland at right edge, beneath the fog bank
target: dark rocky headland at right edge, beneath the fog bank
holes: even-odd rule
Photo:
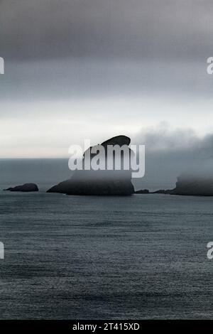
[[[213,196],[213,177],[180,176],[171,195]]]

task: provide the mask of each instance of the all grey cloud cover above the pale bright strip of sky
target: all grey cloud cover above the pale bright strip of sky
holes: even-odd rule
[[[1,0],[1,100],[209,98],[209,0]]]

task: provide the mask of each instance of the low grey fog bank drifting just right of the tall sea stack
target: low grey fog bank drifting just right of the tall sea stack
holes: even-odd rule
[[[143,129],[133,143],[146,145],[146,174],[136,188],[173,188],[182,173],[213,174],[213,134],[192,129]]]

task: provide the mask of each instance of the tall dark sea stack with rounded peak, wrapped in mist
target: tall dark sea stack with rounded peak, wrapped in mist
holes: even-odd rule
[[[105,152],[107,146],[118,145],[128,147],[130,139],[126,136],[116,136],[104,141],[101,145],[95,146],[99,149],[100,146],[104,147]],[[91,148],[90,148],[91,149]],[[128,148],[128,154],[130,149]],[[97,154],[90,154],[90,158],[97,156]],[[107,153],[104,155],[107,163]],[[85,152],[82,165],[84,166]],[[121,160],[122,162],[122,160]],[[84,167],[83,167],[84,168]],[[48,193],[65,193],[67,195],[131,195],[134,193],[134,188],[131,183],[131,170],[124,170],[121,163],[121,170],[115,169],[109,170],[82,170],[75,171],[72,178],[67,181],[63,181],[58,185],[53,186],[48,190]]]

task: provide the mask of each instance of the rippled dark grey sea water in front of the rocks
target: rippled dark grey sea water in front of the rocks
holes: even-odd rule
[[[66,196],[48,186],[0,191],[1,319],[213,318],[213,198]]]

